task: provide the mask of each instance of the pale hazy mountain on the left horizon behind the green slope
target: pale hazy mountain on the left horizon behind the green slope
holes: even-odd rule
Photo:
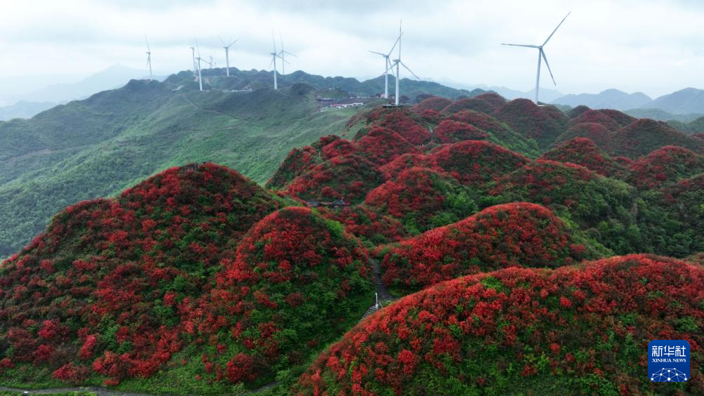
[[[20,99],[30,102],[62,102],[84,99],[106,89],[122,87],[132,79],[145,78],[146,74],[145,70],[128,68],[118,64],[77,82],[47,85],[37,91],[21,95]]]

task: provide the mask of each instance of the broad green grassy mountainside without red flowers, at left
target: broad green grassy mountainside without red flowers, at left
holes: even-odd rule
[[[265,182],[288,151],[339,133],[354,109],[318,111],[309,96],[171,92],[133,82],[86,101],[0,124],[0,257],[57,211],[115,194],[170,166],[222,163]]]

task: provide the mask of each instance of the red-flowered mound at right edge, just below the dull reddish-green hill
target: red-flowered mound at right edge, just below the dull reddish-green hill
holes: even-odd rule
[[[682,147],[666,146],[631,164],[629,182],[652,190],[668,182],[677,182],[704,172],[704,156]]]

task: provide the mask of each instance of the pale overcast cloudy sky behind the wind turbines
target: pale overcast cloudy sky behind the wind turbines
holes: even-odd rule
[[[193,38],[224,64],[223,39],[239,39],[233,66],[268,68],[272,30],[288,70],[370,78],[403,18],[403,61],[424,79],[532,89],[534,49],[546,46],[564,93],[617,88],[650,96],[704,88],[704,1],[166,1],[0,0],[0,75],[89,75],[115,63],[144,68],[144,33],[156,74],[191,68]],[[547,70],[544,69],[543,73]],[[542,87],[551,87],[543,74]],[[1,87],[0,87],[1,90]]]

